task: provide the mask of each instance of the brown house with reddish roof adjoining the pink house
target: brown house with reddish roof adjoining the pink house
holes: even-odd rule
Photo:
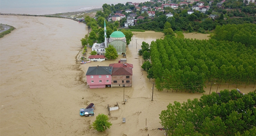
[[[119,63],[110,64],[113,66],[111,87],[131,87],[132,86],[132,64]]]

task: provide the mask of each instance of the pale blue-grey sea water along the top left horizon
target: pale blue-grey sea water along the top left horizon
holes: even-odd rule
[[[133,0],[131,2],[142,2]],[[103,4],[127,3],[127,0],[1,0],[1,13],[20,14],[53,14],[75,11],[86,11],[101,8]]]

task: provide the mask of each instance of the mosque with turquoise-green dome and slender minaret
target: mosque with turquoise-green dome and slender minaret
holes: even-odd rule
[[[94,43],[93,47],[91,47],[92,51],[97,51],[97,55],[105,55],[105,48],[109,45],[113,45],[116,48],[117,54],[126,54],[126,38],[123,32],[121,31],[114,31],[107,38],[106,34],[106,22],[104,20],[104,37],[105,41],[103,43]]]

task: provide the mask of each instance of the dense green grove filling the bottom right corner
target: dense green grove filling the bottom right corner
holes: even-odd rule
[[[255,136],[256,90],[223,90],[169,104],[159,115],[168,136]]]

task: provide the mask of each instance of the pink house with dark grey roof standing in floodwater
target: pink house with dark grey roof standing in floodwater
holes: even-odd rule
[[[89,67],[86,72],[87,84],[90,88],[106,88],[111,86],[112,66]]]

